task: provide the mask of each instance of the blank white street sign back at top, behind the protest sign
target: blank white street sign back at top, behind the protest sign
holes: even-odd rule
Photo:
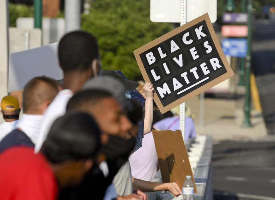
[[[186,22],[208,13],[211,23],[217,20],[217,0],[186,0]],[[152,22],[180,22],[181,0],[150,0]]]

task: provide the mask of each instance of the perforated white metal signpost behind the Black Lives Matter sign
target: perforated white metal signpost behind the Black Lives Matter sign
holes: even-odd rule
[[[180,26],[186,24],[186,0],[181,0]],[[185,102],[180,104],[180,130],[185,143]]]

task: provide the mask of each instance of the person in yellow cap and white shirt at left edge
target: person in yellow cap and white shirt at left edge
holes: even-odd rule
[[[18,99],[14,96],[4,96],[1,100],[1,113],[5,120],[0,124],[0,141],[9,132],[15,129],[15,125],[18,122],[21,108],[19,108]]]

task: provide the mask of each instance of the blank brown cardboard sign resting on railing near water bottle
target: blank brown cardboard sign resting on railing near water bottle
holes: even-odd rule
[[[186,175],[192,176],[194,193],[197,187],[180,130],[152,130],[162,182],[176,182],[181,188]]]

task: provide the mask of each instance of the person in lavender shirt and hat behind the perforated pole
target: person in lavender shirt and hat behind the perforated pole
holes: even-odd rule
[[[176,106],[171,110],[174,113],[173,117],[165,118],[158,121],[153,125],[153,128],[161,130],[172,130],[176,131],[180,128],[180,106]],[[184,141],[188,141],[190,138],[196,137],[196,129],[189,106],[185,106],[185,138]]]

